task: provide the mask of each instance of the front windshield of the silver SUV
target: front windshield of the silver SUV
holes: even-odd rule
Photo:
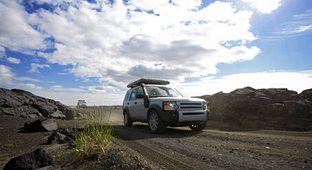
[[[149,97],[182,97],[174,88],[167,86],[146,86]]]

